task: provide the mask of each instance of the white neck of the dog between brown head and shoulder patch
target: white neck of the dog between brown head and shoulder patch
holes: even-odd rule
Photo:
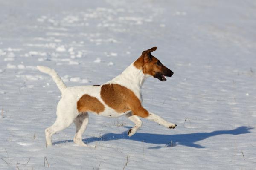
[[[133,84],[136,86],[142,87],[146,78],[150,77],[150,75],[145,75],[143,70],[137,69],[134,66],[134,63],[131,63],[120,75],[113,79],[113,81],[122,81],[128,84]]]

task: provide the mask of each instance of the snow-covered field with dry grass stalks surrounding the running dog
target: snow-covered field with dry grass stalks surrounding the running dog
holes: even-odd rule
[[[149,78],[143,105],[174,130],[90,115],[53,135],[60,92],[102,84],[143,50],[174,75]],[[255,0],[0,0],[0,170],[256,170]],[[47,161],[48,164],[47,164]]]

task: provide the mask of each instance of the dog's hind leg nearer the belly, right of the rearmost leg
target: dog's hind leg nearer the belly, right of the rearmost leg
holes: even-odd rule
[[[81,113],[74,120],[76,124],[76,134],[74,137],[74,142],[84,147],[88,147],[88,145],[82,141],[82,135],[87,127],[88,120],[89,120],[89,115],[87,112]]]

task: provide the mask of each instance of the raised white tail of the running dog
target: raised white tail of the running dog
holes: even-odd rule
[[[45,66],[37,66],[37,68],[40,72],[43,72],[52,76],[52,80],[56,83],[56,85],[58,86],[58,89],[60,89],[61,94],[63,94],[64,89],[66,89],[67,86],[66,84],[64,84],[64,82],[62,81],[61,77],[57,74],[57,72]]]

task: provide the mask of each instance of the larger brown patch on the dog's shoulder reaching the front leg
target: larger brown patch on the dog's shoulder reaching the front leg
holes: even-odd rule
[[[147,117],[148,111],[130,89],[119,84],[104,84],[100,92],[102,100],[118,113],[131,110],[134,115]]]

